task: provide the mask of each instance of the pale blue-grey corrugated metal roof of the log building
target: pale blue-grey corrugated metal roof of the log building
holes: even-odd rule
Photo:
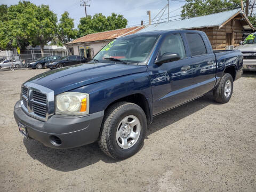
[[[221,26],[222,23],[233,17],[238,12],[242,13],[241,9],[224,11],[220,13],[214,13],[190,19],[183,19],[179,21],[156,23],[154,25],[149,25],[146,28],[140,30],[139,33],[153,30],[193,29],[202,27]]]

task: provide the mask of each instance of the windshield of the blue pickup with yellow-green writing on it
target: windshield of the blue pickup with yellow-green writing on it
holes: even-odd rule
[[[93,59],[109,62],[105,58],[115,58],[126,63],[146,63],[158,37],[158,35],[133,35],[115,39],[103,47]]]

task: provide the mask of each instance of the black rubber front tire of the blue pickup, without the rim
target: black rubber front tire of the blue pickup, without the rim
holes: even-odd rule
[[[141,130],[139,138],[134,142],[133,146],[128,149],[123,149],[118,146],[116,132],[122,119],[129,115],[133,115],[139,119]],[[119,129],[121,128],[119,127]],[[103,153],[109,157],[125,159],[131,157],[140,150],[145,139],[146,130],[147,118],[141,107],[131,102],[117,102],[106,110],[101,125],[98,143]]]

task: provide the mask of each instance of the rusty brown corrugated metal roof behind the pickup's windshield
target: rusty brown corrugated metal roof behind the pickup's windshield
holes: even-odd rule
[[[115,38],[122,37],[125,35],[134,34],[143,28],[144,28],[144,26],[139,26],[139,27],[137,26],[137,27],[124,28],[124,29],[116,29],[116,30],[111,30],[111,31],[103,31],[100,33],[85,35],[85,36],[77,38],[74,41],[69,42],[67,44],[115,39]]]

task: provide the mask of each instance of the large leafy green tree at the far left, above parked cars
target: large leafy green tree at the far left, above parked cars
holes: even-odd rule
[[[57,31],[57,16],[47,5],[19,2],[7,9],[7,21],[0,24],[0,48],[24,49],[29,44],[43,47]]]

